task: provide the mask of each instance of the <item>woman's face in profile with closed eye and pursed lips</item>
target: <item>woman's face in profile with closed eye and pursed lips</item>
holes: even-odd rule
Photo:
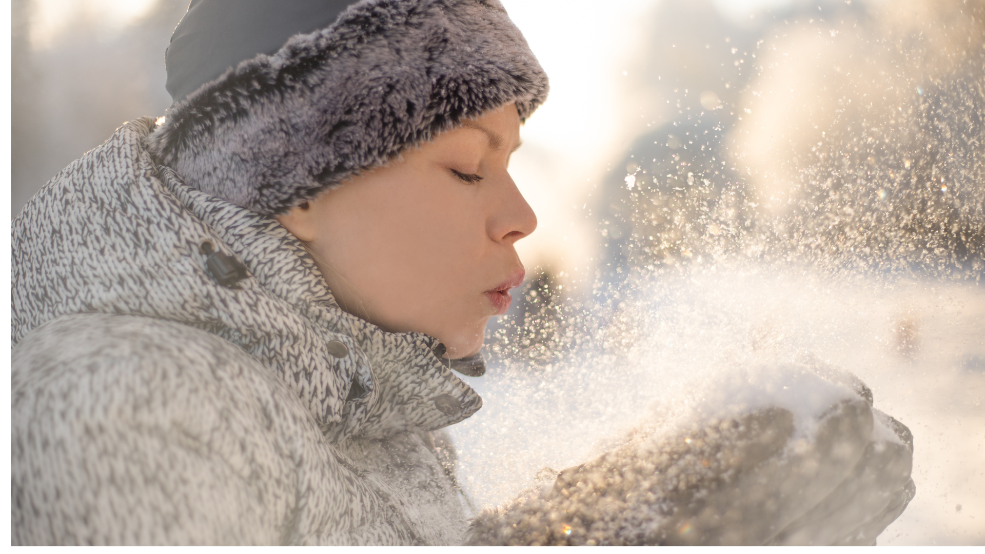
[[[506,169],[514,105],[442,133],[278,220],[307,242],[340,306],[389,331],[475,354],[523,281],[513,243],[537,217]]]

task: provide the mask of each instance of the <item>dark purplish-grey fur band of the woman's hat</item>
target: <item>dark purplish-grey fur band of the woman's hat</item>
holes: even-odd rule
[[[497,0],[362,0],[205,83],[165,112],[158,163],[233,204],[284,213],[548,78]]]

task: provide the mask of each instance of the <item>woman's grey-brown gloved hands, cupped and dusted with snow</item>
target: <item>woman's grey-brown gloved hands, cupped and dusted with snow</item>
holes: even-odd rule
[[[799,372],[788,394],[756,389],[783,379],[730,390],[738,405],[677,433],[637,434],[561,471],[549,490],[484,513],[470,542],[874,544],[913,498],[909,430],[874,410],[850,374],[817,363],[785,371]],[[796,403],[809,397],[823,405]],[[759,407],[744,408],[750,398]]]

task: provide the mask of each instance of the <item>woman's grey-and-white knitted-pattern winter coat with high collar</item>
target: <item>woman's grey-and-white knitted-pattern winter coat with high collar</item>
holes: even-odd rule
[[[342,312],[275,219],[157,165],[154,128],[14,220],[13,542],[461,542],[437,430],[482,399],[435,339]]]

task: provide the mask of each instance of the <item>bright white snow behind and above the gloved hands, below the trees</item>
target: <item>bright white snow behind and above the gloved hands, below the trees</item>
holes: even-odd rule
[[[467,378],[485,406],[450,432],[477,506],[506,502],[544,468],[584,462],[634,428],[669,433],[695,414],[778,405],[810,434],[850,394],[804,372],[813,359],[865,381],[875,407],[914,435],[916,497],[880,544],[985,541],[980,286],[709,267],[641,288],[604,326],[582,329],[595,343],[577,357]],[[911,322],[905,336],[900,321]],[[620,340],[606,338],[614,328]]]

